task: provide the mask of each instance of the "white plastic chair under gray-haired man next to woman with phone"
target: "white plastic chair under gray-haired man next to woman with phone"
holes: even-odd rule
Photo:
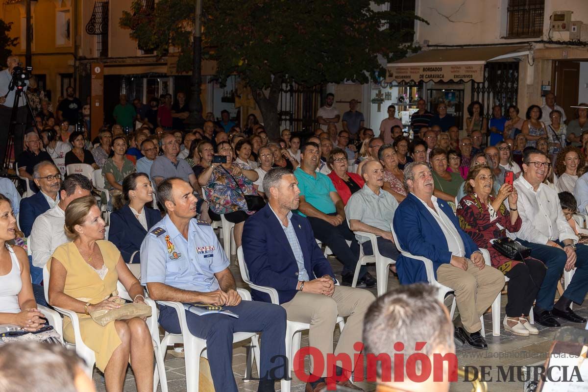
[[[426,257],[415,256],[413,254],[410,254],[406,250],[402,249],[402,247],[400,246],[400,243],[398,241],[398,238],[396,237],[396,233],[394,232],[394,226],[390,225],[390,229],[392,230],[394,242],[396,243],[396,247],[400,251],[400,254],[402,254],[405,257],[410,257],[410,259],[420,260],[425,264],[425,270],[427,272],[427,280],[429,281],[429,284],[431,284],[434,287],[437,287],[437,290],[438,290],[437,299],[441,303],[444,303],[445,296],[449,293],[453,293],[453,289],[450,289],[449,287],[444,286],[443,284],[437,282],[437,279],[435,279],[435,272],[433,271],[433,262],[431,260],[427,259]],[[484,256],[484,261],[485,261],[486,265],[489,266],[490,265],[490,254],[488,253],[488,251],[486,249],[480,249],[480,252],[482,252],[482,255]],[[453,314],[455,313],[455,306],[456,306],[456,304],[455,304],[455,296],[454,296],[453,303],[451,304],[451,309],[449,312],[452,320],[453,320]],[[490,309],[492,311],[492,335],[493,336],[500,336],[500,292],[496,296],[496,299],[493,301],[492,307]],[[483,315],[480,316],[480,321],[482,322],[482,330],[480,331],[480,333],[482,334],[482,336],[485,336],[486,330],[484,327],[484,316]]]

